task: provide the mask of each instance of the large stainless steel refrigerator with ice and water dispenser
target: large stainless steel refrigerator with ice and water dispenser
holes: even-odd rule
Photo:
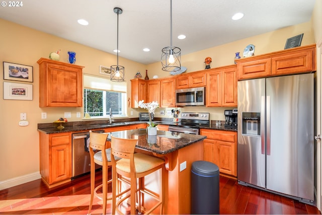
[[[238,81],[237,180],[313,204],[313,74]]]

